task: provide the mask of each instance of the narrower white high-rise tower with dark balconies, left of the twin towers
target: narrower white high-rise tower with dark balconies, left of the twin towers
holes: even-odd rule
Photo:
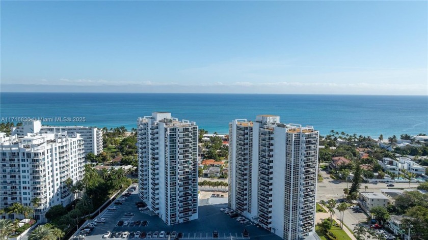
[[[138,118],[139,194],[168,225],[198,218],[198,126],[169,112]]]

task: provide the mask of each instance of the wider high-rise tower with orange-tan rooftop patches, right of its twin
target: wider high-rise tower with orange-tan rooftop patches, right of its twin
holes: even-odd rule
[[[229,124],[229,207],[286,240],[315,230],[318,131],[279,116]]]

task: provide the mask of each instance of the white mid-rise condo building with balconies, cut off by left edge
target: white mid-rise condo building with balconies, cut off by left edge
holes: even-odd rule
[[[35,219],[46,222],[46,211],[53,206],[66,206],[73,193],[65,184],[73,183],[84,174],[84,138],[78,133],[29,133],[25,136],[6,136],[0,132],[0,209],[18,202],[33,206],[39,198]],[[14,219],[14,214],[0,218]]]

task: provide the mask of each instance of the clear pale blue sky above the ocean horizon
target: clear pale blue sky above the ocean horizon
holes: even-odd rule
[[[1,1],[1,91],[428,95],[427,3]]]

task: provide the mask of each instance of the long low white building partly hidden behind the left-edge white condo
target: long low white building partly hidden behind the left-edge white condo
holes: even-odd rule
[[[23,123],[21,127],[12,127],[13,135],[24,136],[27,133],[67,133],[73,136],[75,133],[83,137],[85,144],[85,155],[93,153],[98,155],[102,152],[102,130],[96,127],[82,126],[41,126],[40,121],[30,121]]]

